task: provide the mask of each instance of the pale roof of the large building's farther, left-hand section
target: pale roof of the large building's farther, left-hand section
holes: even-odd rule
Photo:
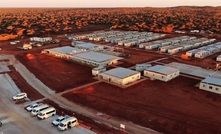
[[[71,54],[73,52],[74,53],[82,52],[81,49],[70,47],[70,46],[56,47],[56,48],[46,49],[46,50],[55,51],[55,52],[64,53],[64,54]]]

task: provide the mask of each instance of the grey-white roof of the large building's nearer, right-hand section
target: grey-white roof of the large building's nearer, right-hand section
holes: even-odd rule
[[[112,56],[108,54],[102,54],[98,52],[84,52],[74,55],[75,57],[83,58],[86,60],[94,61],[94,62],[104,62],[113,59],[123,59],[117,56]]]

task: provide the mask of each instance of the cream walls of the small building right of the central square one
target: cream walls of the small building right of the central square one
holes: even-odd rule
[[[180,71],[174,72],[169,75],[163,75],[163,74],[144,70],[144,76],[147,76],[147,77],[150,77],[153,79],[157,79],[157,80],[161,80],[161,81],[165,81],[165,82],[176,78],[177,76],[179,76],[179,74],[180,74]]]

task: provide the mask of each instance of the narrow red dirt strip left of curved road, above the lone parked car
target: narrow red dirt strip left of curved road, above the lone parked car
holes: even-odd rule
[[[9,72],[9,76],[15,82],[17,87],[21,90],[21,92],[25,92],[28,95],[30,100],[38,100],[43,98],[44,96],[41,95],[38,91],[36,91],[32,86],[30,86],[26,80],[15,70],[13,66],[8,66],[11,72]]]

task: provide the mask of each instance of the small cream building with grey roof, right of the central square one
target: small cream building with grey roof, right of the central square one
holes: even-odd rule
[[[170,81],[180,74],[180,70],[168,66],[156,65],[144,70],[144,76],[161,81]]]

